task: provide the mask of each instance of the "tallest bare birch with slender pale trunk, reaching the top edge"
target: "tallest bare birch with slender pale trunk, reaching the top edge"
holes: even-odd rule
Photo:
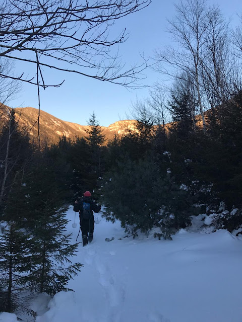
[[[208,11],[205,0],[186,0],[175,5],[176,16],[168,20],[168,32],[177,42],[178,48],[168,47],[166,51],[157,50],[156,56],[159,64],[155,69],[173,78],[189,74],[196,86],[200,113],[206,128],[204,106],[201,95],[201,54],[206,42],[209,26]],[[170,67],[172,67],[170,69]]]

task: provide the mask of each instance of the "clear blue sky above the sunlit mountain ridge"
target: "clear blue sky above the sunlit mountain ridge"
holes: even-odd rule
[[[120,19],[113,26],[113,32],[117,35],[124,28],[130,33],[129,39],[119,45],[119,53],[122,54],[123,61],[127,62],[127,66],[141,62],[139,52],[145,57],[154,56],[156,48],[169,44],[169,35],[165,32],[166,18],[172,18],[175,15],[173,4],[177,2],[153,0],[148,8]],[[242,13],[241,0],[221,0],[219,2],[208,0],[208,4],[218,4],[225,17],[232,18],[233,21],[237,20],[236,13]],[[17,71],[22,70],[17,63],[16,69]],[[32,74],[33,70],[29,65],[26,65],[26,69]],[[145,73],[147,78],[144,84],[152,86],[159,75],[151,69],[147,69]],[[135,101],[136,97],[141,99],[148,96],[147,88],[127,90],[122,86],[100,82],[81,75],[45,70],[46,83],[48,81],[61,82],[63,79],[65,83],[62,87],[41,91],[41,110],[59,119],[81,125],[87,124],[93,111],[102,126],[127,119],[127,114],[130,114],[131,101]],[[38,108],[37,88],[29,84],[22,85],[22,91],[9,105]]]

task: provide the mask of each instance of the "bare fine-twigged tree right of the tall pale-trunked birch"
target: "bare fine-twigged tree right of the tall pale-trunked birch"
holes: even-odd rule
[[[217,7],[208,11],[207,41],[201,55],[202,87],[211,108],[228,101],[241,84],[241,67],[233,55],[229,23]]]

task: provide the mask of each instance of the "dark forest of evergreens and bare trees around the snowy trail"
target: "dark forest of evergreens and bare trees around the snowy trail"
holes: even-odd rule
[[[134,131],[106,140],[93,113],[87,138],[47,144],[2,104],[0,311],[34,316],[33,294],[69,290],[82,264],[70,261],[78,244],[65,213],[86,190],[133,238],[156,227],[157,242],[172,240],[201,214],[211,232],[242,233],[242,19],[232,29],[199,0],[176,12],[168,26],[179,50],[157,49],[152,67],[171,81],[133,102]]]

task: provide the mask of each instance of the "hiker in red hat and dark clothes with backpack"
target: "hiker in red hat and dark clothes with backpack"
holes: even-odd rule
[[[74,211],[79,211],[80,228],[82,230],[82,243],[83,246],[91,243],[94,230],[94,216],[93,212],[99,212],[101,210],[100,205],[96,205],[94,201],[91,201],[90,191],[86,191],[83,194],[81,201],[75,201]]]

